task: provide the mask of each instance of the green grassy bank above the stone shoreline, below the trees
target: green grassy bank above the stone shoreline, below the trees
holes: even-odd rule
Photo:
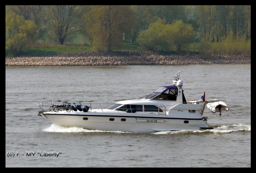
[[[136,51],[144,50],[143,46],[138,43],[124,43],[120,47],[116,47],[113,51]],[[92,52],[92,47],[88,44],[73,43],[64,45],[52,45],[52,44],[36,44],[34,47],[29,47],[23,55],[35,56],[40,54],[55,54],[55,53],[77,53],[77,52]],[[170,52],[176,52],[175,47],[173,47]],[[186,50],[181,50],[181,52],[199,52],[202,55],[211,54],[243,54],[251,53],[251,42],[244,43],[191,43],[189,48]],[[176,52],[178,53],[178,52]],[[5,51],[6,56],[20,56],[13,54],[10,51]]]

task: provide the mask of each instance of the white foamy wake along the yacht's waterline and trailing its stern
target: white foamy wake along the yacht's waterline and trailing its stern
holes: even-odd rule
[[[134,132],[121,132],[121,131],[102,131],[102,130],[88,130],[83,127],[63,127],[52,124],[50,127],[43,129],[44,132],[59,132],[59,133],[134,133]],[[231,132],[245,132],[251,131],[251,125],[245,124],[232,124],[214,126],[210,130],[180,130],[180,131],[165,131],[154,132],[151,134],[190,134],[190,133],[231,133]]]

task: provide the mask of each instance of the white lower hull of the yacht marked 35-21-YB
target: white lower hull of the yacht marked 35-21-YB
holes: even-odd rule
[[[206,130],[209,127],[203,118],[171,118],[161,115],[132,115],[125,116],[115,113],[99,114],[94,112],[55,113],[44,112],[43,115],[58,126],[80,126],[90,130],[123,131],[123,132],[157,132],[178,130]]]

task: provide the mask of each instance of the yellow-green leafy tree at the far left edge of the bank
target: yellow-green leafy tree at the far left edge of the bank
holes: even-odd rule
[[[6,7],[5,13],[5,49],[22,53],[36,40],[36,24],[24,20]]]

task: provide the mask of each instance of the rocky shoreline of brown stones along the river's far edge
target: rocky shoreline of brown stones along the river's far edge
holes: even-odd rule
[[[153,51],[81,52],[5,57],[5,66],[115,66],[160,64],[247,64],[251,54],[214,55],[172,54]]]

